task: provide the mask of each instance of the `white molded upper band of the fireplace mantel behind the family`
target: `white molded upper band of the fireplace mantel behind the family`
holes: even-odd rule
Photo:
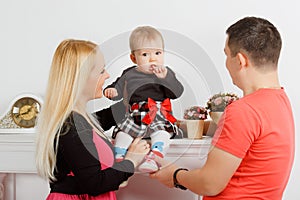
[[[35,138],[35,129],[0,129],[0,173],[36,173]],[[210,137],[172,139],[166,159],[206,159],[210,143]]]

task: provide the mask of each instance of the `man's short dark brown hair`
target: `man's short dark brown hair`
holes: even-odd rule
[[[278,30],[268,20],[245,17],[231,25],[226,33],[232,56],[244,51],[256,66],[277,66],[282,42]]]

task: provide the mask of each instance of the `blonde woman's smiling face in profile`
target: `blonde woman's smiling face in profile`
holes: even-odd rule
[[[98,99],[103,96],[102,90],[109,74],[105,70],[104,58],[100,50],[97,50],[94,67],[89,76],[86,90],[89,91],[90,99]]]

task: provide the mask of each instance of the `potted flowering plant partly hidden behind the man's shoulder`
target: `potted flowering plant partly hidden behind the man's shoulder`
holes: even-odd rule
[[[234,93],[217,93],[206,102],[211,119],[217,124],[225,108],[239,97]]]

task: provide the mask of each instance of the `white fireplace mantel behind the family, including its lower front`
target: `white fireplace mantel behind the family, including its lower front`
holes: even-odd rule
[[[0,129],[0,174],[2,175],[0,176],[0,200],[1,179],[5,175],[7,175],[7,180],[4,183],[7,185],[4,185],[4,188],[8,188],[8,191],[5,191],[4,196],[7,197],[4,198],[5,200],[38,199],[40,196],[45,197],[49,192],[48,184],[46,182],[40,184],[41,180],[37,180],[39,177],[36,175],[35,168],[35,137],[35,129]],[[210,137],[204,137],[200,140],[173,139],[165,158],[181,167],[199,168],[206,161],[210,143]],[[22,181],[18,182],[16,178],[18,174],[23,175]],[[32,178],[33,176],[35,178]],[[36,183],[37,185],[29,187],[32,191],[21,188],[25,187],[27,182],[35,184],[32,180],[39,182]],[[37,195],[38,191],[44,194],[40,194],[38,198],[28,196],[29,193]],[[18,194],[18,192],[27,192],[28,197],[26,198],[26,195]],[[122,200],[199,199],[197,195],[190,191],[166,188],[157,181],[151,180],[145,174],[138,173],[129,179],[129,183],[125,188],[121,188],[117,192],[117,196],[118,199]]]

